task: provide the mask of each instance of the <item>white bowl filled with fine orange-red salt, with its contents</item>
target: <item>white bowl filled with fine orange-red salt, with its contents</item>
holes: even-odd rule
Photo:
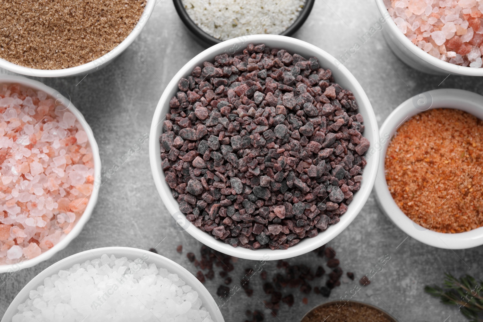
[[[430,246],[483,244],[483,97],[438,89],[398,106],[381,126],[375,192],[384,213]]]

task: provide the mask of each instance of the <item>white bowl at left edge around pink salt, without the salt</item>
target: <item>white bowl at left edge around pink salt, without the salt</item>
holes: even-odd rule
[[[79,110],[75,108],[75,106],[71,103],[69,98],[64,97],[52,87],[49,87],[40,82],[31,80],[29,78],[22,77],[22,76],[1,75],[0,85],[2,84],[21,84],[23,86],[30,87],[35,90],[44,91],[45,93],[47,93],[48,96],[56,99],[59,105],[62,104],[63,107],[67,107],[67,110],[69,110],[69,112],[71,112],[77,117],[77,119],[84,127],[85,133],[87,133],[87,138],[89,140],[89,144],[92,149],[92,156],[94,158],[94,178],[97,180],[97,178],[100,177],[99,147],[97,146],[96,139],[94,138],[92,129],[85,121],[84,116],[81,114],[81,112],[79,112]],[[92,190],[92,194],[89,198],[89,202],[87,203],[87,206],[85,207],[83,215],[81,216],[79,221],[74,225],[72,230],[68,234],[64,235],[64,238],[61,239],[56,245],[54,245],[54,247],[52,247],[46,252],[43,252],[37,257],[22,261],[18,264],[0,265],[0,273],[4,273],[4,272],[10,273],[10,272],[18,271],[22,268],[32,267],[34,265],[39,264],[40,262],[43,262],[51,258],[52,256],[54,256],[56,252],[66,248],[72,239],[79,236],[85,223],[87,223],[87,221],[89,220],[92,214],[92,210],[94,210],[94,206],[96,205],[98,195],[99,195],[99,188],[96,188],[96,186],[94,186],[94,189]]]

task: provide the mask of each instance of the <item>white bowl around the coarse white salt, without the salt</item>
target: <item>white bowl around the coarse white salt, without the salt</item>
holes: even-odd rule
[[[178,277],[186,282],[187,285],[191,286],[196,292],[198,292],[199,298],[203,303],[203,307],[210,312],[213,322],[224,322],[223,316],[221,315],[220,309],[216,305],[213,296],[208,292],[206,287],[188,270],[183,266],[173,262],[172,260],[158,255],[154,252],[148,252],[137,248],[130,247],[104,247],[96,248],[93,250],[79,252],[67,258],[64,258],[57,263],[45,268],[36,277],[28,282],[27,285],[20,291],[20,293],[15,296],[14,301],[10,304],[1,319],[1,322],[11,322],[12,317],[18,312],[17,307],[24,303],[29,296],[31,290],[36,290],[38,286],[43,285],[43,280],[47,277],[51,277],[57,274],[59,270],[67,270],[74,266],[75,264],[82,264],[87,260],[93,260],[100,258],[103,254],[108,254],[109,256],[114,255],[116,258],[127,257],[130,260],[135,260],[137,258],[145,259],[146,264],[156,264],[158,268],[166,268],[172,274],[178,274]],[[147,256],[147,257],[146,257]]]

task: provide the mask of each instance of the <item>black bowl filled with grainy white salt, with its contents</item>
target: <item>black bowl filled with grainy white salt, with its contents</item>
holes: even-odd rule
[[[173,0],[176,12],[204,47],[247,36],[291,36],[307,20],[315,0]],[[234,54],[235,48],[231,54]]]

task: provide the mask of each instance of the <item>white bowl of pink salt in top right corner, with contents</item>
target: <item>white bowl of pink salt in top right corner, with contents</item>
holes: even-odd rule
[[[384,38],[414,69],[437,75],[483,76],[481,0],[376,0],[387,19]]]

